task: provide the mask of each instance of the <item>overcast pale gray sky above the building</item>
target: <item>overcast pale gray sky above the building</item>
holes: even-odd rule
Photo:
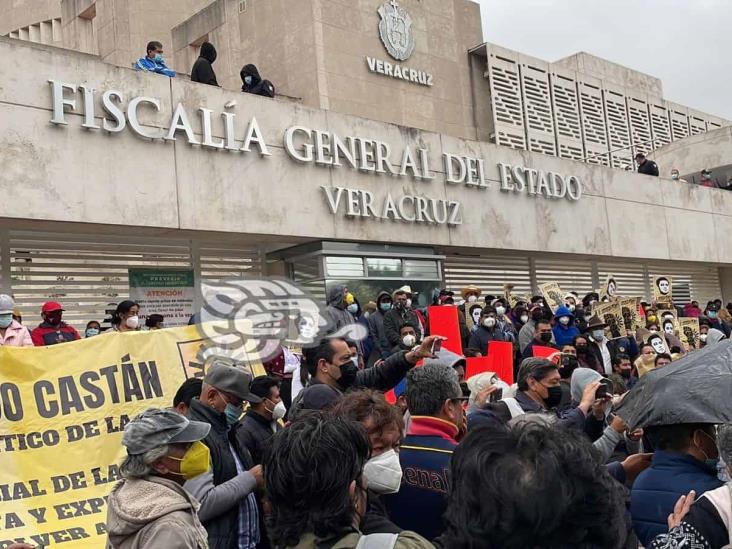
[[[487,42],[546,61],[586,51],[663,82],[664,97],[732,119],[730,0],[476,0]]]

